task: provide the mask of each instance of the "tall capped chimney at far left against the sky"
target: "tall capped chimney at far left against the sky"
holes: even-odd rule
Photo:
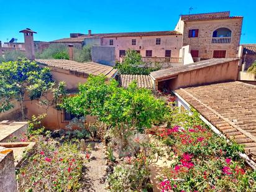
[[[35,60],[35,45],[34,45],[34,32],[33,30],[26,28],[21,30],[20,33],[24,34],[25,53],[29,60]]]

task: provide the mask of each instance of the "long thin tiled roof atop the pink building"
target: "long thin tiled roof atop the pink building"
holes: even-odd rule
[[[153,32],[124,32],[124,33],[109,33],[109,34],[91,34],[91,35],[81,35],[76,38],[64,38],[53,40],[55,43],[69,43],[69,42],[83,42],[85,38],[101,38],[101,37],[140,37],[140,36],[161,36],[161,35],[182,35],[176,30],[167,31],[153,31]]]

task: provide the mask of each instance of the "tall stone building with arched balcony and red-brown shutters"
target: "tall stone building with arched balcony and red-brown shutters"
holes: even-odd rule
[[[183,34],[183,46],[197,58],[234,58],[239,56],[243,17],[230,12],[182,15],[175,30]]]

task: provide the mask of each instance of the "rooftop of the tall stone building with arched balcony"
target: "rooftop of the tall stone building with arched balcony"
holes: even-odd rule
[[[181,20],[183,21],[207,21],[207,20],[218,20],[218,19],[241,19],[241,18],[243,17],[230,16],[230,11],[181,15]]]

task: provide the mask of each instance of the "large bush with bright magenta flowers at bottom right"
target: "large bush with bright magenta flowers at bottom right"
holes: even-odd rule
[[[239,157],[243,147],[201,126],[198,114],[178,114],[178,126],[160,129],[157,138],[171,149],[172,167],[164,171],[162,191],[255,191],[256,172]],[[178,118],[178,119],[179,119]],[[186,119],[186,120],[185,120]],[[199,126],[191,126],[193,123]]]

